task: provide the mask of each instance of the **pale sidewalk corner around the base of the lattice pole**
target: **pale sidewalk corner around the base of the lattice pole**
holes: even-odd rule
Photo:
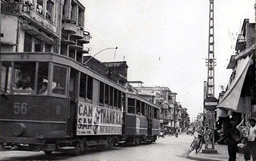
[[[202,149],[204,149],[204,144],[202,146]],[[193,150],[188,154],[188,158],[193,159],[193,160],[205,160],[205,161],[214,161],[214,160],[219,160],[219,161],[226,161],[228,160],[228,151],[227,151],[227,145],[215,145],[215,149],[218,151],[217,154],[207,154],[207,153],[202,153],[202,149],[200,150],[199,153],[196,154],[196,150]],[[244,154],[239,154],[237,153],[237,161],[242,161],[244,160]]]

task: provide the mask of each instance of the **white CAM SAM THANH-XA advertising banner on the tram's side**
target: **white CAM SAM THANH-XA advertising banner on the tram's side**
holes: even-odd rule
[[[122,112],[78,102],[77,135],[122,133]]]

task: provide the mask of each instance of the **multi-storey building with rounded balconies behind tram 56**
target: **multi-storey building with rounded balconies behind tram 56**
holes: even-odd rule
[[[90,42],[84,11],[77,0],[1,0],[1,53],[55,53],[81,62]]]

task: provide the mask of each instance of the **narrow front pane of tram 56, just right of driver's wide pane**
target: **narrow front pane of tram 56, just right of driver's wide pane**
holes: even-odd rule
[[[38,62],[38,78],[37,78],[37,93],[38,95],[47,95],[48,88],[48,62]]]

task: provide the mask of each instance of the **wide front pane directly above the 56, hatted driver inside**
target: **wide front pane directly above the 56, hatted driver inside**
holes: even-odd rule
[[[34,89],[34,82],[35,62],[14,62],[14,94],[31,95]]]

